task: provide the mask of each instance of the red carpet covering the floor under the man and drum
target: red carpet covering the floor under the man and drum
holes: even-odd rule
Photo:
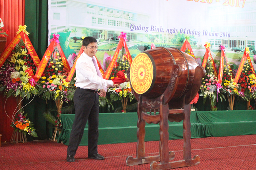
[[[80,146],[75,162],[66,162],[67,146],[50,141],[25,144],[2,143],[0,170],[149,170],[150,163],[129,167],[127,156],[135,157],[137,143],[99,145],[105,160],[87,159],[87,146]],[[148,155],[158,154],[158,141],[146,142]],[[182,159],[183,140],[170,140],[169,150]],[[256,135],[191,139],[192,157],[201,162],[180,170],[256,170]]]

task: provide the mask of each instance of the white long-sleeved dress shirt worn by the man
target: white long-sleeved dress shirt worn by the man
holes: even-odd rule
[[[113,85],[112,80],[105,80],[98,76],[92,57],[87,56],[84,52],[77,59],[75,70],[77,76],[76,87],[97,90]]]

